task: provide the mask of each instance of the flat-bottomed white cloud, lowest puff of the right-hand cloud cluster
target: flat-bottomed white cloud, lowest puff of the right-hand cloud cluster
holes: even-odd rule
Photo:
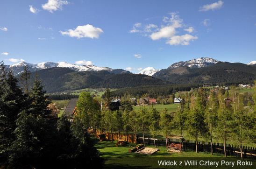
[[[172,36],[171,39],[169,41],[167,41],[166,43],[168,43],[170,45],[189,45],[190,41],[193,41],[196,39],[198,39],[197,36],[192,36],[189,34],[175,35],[175,36]]]

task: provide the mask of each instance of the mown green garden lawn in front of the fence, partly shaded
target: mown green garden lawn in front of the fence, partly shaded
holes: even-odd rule
[[[169,154],[166,151],[165,147],[157,147],[159,151],[157,151],[153,155],[144,155],[138,153],[128,153],[128,149],[133,147],[134,145],[128,145],[126,147],[115,147],[116,141],[98,141],[95,147],[100,151],[102,157],[105,161],[105,168],[107,169],[157,169],[157,168],[168,168],[168,169],[177,169],[182,168],[184,166],[159,166],[158,160],[166,160],[166,161],[186,161],[186,160],[210,160],[210,161],[237,161],[240,160],[237,157],[229,157],[225,158],[224,155],[210,153],[196,153],[192,151],[184,151],[181,153],[172,153]],[[149,146],[154,148],[152,146]],[[184,163],[183,163],[184,164]],[[216,169],[216,166],[185,166],[185,168],[190,169],[198,169],[198,168],[212,168]],[[219,168],[219,167],[218,167]],[[230,167],[232,168],[232,167]],[[226,168],[225,168],[226,169]],[[232,168],[234,169],[234,167]],[[249,169],[249,168],[248,168]]]

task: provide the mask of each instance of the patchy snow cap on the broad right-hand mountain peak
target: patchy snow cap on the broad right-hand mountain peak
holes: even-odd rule
[[[210,57],[199,57],[197,59],[192,59],[192,60],[187,60],[185,62],[181,61],[178,63],[173,63],[168,69],[174,69],[177,67],[190,67],[190,68],[201,68],[201,67],[206,67],[215,63],[218,63],[220,61],[215,60]]]

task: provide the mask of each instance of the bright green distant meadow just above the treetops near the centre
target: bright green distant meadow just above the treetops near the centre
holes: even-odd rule
[[[176,112],[178,109],[179,104],[171,104],[171,105],[153,105],[153,108],[156,108],[158,112],[163,112],[166,108],[169,112]],[[133,106],[133,109],[138,112],[142,108],[147,108],[148,110],[152,109],[152,105],[147,106]]]

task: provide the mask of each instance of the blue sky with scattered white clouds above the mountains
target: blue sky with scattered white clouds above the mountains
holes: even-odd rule
[[[0,60],[133,72],[204,56],[249,63],[255,9],[255,0],[1,0]]]

